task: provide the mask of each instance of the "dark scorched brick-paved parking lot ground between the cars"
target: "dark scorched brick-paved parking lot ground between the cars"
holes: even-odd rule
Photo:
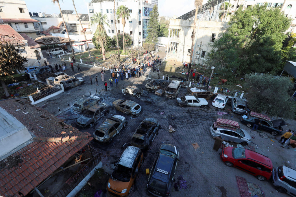
[[[91,91],[93,95],[96,93],[95,89],[97,89],[96,95],[101,97],[101,102],[108,105],[112,105],[112,102],[116,99],[130,99],[139,103],[139,105],[142,106],[142,112],[137,117],[132,117],[112,109],[106,117],[102,117],[97,121],[94,128],[77,127],[82,132],[93,134],[95,128],[107,117],[111,117],[115,114],[126,117],[128,120],[126,128],[114,137],[111,144],[99,144],[95,140],[91,142],[101,153],[103,168],[109,174],[114,168],[113,164],[118,161],[123,150],[129,145],[131,136],[139,123],[147,117],[158,119],[162,128],[158,131],[149,150],[144,152],[145,161],[139,170],[135,186],[133,186],[130,196],[148,196],[145,191],[148,178],[148,175],[145,174],[145,169],[149,168],[151,170],[155,155],[160,145],[163,143],[170,143],[178,147],[180,160],[176,168],[174,179],[177,180],[179,176],[183,176],[188,185],[187,189],[181,189],[180,191],[175,191],[174,188],[172,188],[172,196],[239,196],[235,178],[236,175],[246,178],[247,182],[260,185],[266,196],[285,196],[285,194],[276,192],[270,181],[262,182],[246,172],[233,167],[227,167],[221,161],[219,153],[212,150],[214,140],[210,135],[209,129],[217,118],[228,118],[237,121],[243,129],[248,131],[251,136],[255,137],[255,139],[252,139],[252,142],[258,145],[256,152],[270,157],[274,167],[287,165],[295,168],[294,151],[292,149],[280,147],[277,142],[277,140],[279,140],[278,136],[274,137],[265,132],[268,134],[268,139],[264,139],[255,131],[251,133],[251,129],[247,128],[239,121],[240,115],[234,114],[229,110],[229,105],[221,110],[211,106],[211,100],[209,100],[209,106],[203,109],[193,107],[186,108],[179,107],[176,99],[160,97],[151,92],[148,95],[142,95],[140,98],[132,97],[131,95],[123,95],[121,93],[121,87],[123,85],[136,84],[138,87],[144,88],[145,83],[148,82],[148,80],[144,80],[144,77],[130,79],[128,81],[119,80],[120,87],[117,88],[110,88],[110,84],[108,83],[108,91],[105,92],[102,84],[99,86],[94,85],[94,76],[98,75],[99,72],[100,70],[98,68],[83,67],[83,72],[79,73],[79,75],[82,75],[84,79],[86,79],[85,84],[39,103],[38,106],[54,114],[58,113],[58,107],[60,107],[63,112],[58,113],[57,116],[61,119],[65,119],[67,124],[72,124],[74,127],[77,127],[75,118],[80,114],[73,112],[71,108],[67,109],[67,103],[72,106],[75,98],[82,95],[89,95],[89,91]],[[88,81],[89,74],[93,76],[93,85],[90,85]],[[110,73],[106,72],[106,75],[109,77]],[[102,83],[102,81],[99,82]],[[185,91],[185,88],[181,88],[179,96],[184,95]],[[160,113],[163,111],[164,114],[161,115]],[[227,114],[220,116],[217,114],[218,111],[227,112]],[[171,125],[176,132],[169,133],[169,125]],[[295,122],[289,123],[289,126],[292,125],[295,125]],[[284,129],[288,129],[288,126],[284,127]],[[275,142],[272,142],[270,139]],[[192,143],[197,143],[200,148],[195,150]],[[255,144],[252,144],[252,146],[256,146]]]

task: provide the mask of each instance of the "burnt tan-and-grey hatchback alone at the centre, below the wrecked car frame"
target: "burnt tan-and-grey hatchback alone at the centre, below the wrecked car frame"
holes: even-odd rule
[[[142,110],[138,103],[131,100],[118,99],[113,101],[112,104],[118,111],[126,114],[139,115]]]

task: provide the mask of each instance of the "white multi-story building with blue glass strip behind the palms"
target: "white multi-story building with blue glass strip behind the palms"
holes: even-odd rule
[[[130,10],[131,17],[126,20],[124,32],[132,37],[132,46],[142,46],[147,38],[147,28],[149,16],[152,8],[158,4],[158,0],[116,0],[115,10],[113,0],[92,0],[88,3],[89,17],[94,13],[101,12],[107,15],[108,27],[105,25],[107,35],[111,38],[115,36],[114,21],[117,20],[117,30],[119,33],[123,32],[123,25],[120,19],[114,19],[114,12],[120,5],[125,5]],[[91,32],[96,31],[96,25],[91,26]]]

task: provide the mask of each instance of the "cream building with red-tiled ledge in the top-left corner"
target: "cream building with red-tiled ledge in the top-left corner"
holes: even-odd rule
[[[30,17],[25,1],[0,1],[0,24],[9,25],[18,33],[25,33],[34,40],[41,31],[38,22]]]

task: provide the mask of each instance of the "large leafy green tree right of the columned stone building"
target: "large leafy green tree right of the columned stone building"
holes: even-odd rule
[[[237,74],[268,72],[281,63],[281,47],[291,19],[280,9],[262,6],[240,7],[210,51],[210,66],[233,79]]]

